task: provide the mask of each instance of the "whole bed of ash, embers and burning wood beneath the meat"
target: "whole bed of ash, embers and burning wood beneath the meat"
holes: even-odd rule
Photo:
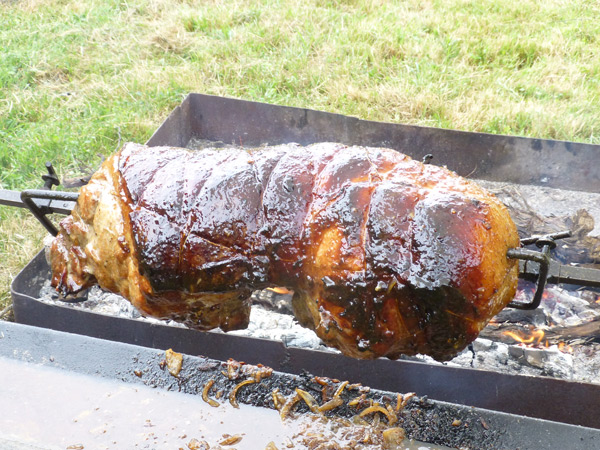
[[[534,286],[522,281],[517,300],[528,302],[533,293]],[[98,287],[90,289],[85,301],[64,303],[48,282],[40,292],[40,300],[90,312],[158,322],[141,317],[127,300]],[[290,300],[270,291],[255,293],[248,329],[232,334],[280,340],[292,347],[336,352],[322,345],[314,332],[295,323]],[[170,325],[183,326],[175,322]],[[405,359],[440,364],[426,356]],[[600,383],[600,294],[593,290],[569,291],[563,287],[548,286],[540,307],[531,311],[504,309],[468,349],[444,364]]]

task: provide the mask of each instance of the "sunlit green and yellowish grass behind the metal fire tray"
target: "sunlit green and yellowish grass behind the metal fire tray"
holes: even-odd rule
[[[0,2],[0,188],[38,186],[46,160],[91,170],[192,91],[600,143],[599,13],[562,0]],[[24,217],[0,207],[0,309],[42,235]]]

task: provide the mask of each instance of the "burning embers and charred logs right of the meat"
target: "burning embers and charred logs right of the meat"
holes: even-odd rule
[[[530,301],[523,282],[518,300]],[[600,383],[600,300],[590,290],[548,287],[539,308],[505,309],[449,365]]]

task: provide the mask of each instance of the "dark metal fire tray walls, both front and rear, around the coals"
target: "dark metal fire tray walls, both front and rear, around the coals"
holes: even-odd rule
[[[463,176],[600,192],[600,171],[590,161],[600,146],[369,122],[301,108],[190,94],[148,145],[185,147],[191,139],[253,147],[335,141],[432,154],[435,164]],[[357,361],[338,354],[287,348],[281,342],[203,333],[40,302],[49,279],[42,253],[11,286],[17,322],[146,347],[174,348],[218,360],[262,363],[293,374],[308,371],[391,392],[414,391],[432,399],[511,414],[600,428],[600,386],[409,361]]]

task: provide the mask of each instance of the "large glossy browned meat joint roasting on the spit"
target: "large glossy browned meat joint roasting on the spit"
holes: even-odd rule
[[[252,291],[284,287],[346,355],[447,360],[514,297],[518,246],[494,196],[394,150],[126,144],[81,189],[50,262],[63,295],[98,283],[200,330],[246,327]]]

